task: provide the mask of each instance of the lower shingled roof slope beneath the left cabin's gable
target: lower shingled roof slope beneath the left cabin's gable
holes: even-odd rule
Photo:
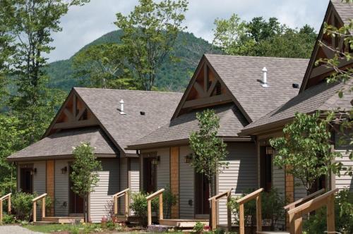
[[[90,142],[95,147],[95,154],[119,154],[112,141],[99,127],[75,128],[62,130],[42,140],[31,144],[29,147],[8,156],[9,160],[35,159],[47,156],[70,156],[73,147],[81,142]]]

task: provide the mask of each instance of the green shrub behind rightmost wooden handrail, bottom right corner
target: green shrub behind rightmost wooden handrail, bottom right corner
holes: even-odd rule
[[[304,221],[304,230],[307,233],[324,233],[326,220],[326,207],[322,207]],[[335,197],[335,226],[336,231],[342,234],[353,233],[353,193],[349,190],[341,190]]]

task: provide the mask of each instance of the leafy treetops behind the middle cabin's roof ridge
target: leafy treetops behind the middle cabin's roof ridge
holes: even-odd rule
[[[316,42],[313,27],[293,29],[277,18],[246,22],[233,14],[229,19],[217,18],[215,26],[213,45],[231,55],[309,58]]]

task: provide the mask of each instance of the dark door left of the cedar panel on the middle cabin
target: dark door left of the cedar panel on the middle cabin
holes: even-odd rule
[[[157,165],[152,164],[155,158],[143,159],[143,178],[145,192],[157,191]]]

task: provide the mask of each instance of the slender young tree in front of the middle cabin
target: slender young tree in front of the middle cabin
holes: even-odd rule
[[[210,197],[215,195],[215,177],[227,168],[227,144],[217,137],[220,128],[220,118],[215,111],[206,109],[196,113],[198,119],[198,132],[191,133],[189,137],[192,153],[191,166],[196,173],[203,174],[210,187]],[[211,218],[210,218],[211,220]]]

